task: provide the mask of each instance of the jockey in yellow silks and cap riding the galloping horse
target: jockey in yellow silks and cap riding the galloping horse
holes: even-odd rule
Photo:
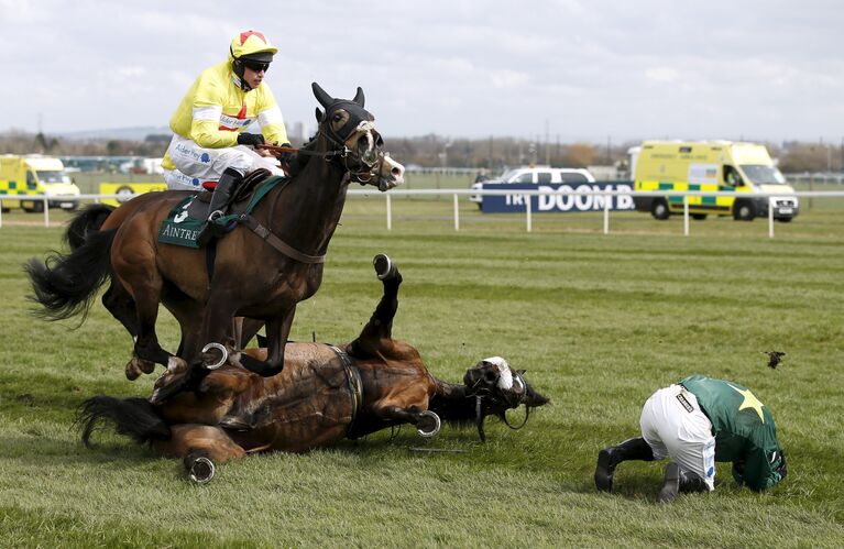
[[[218,182],[213,212],[246,173],[263,167],[284,175],[275,158],[252,149],[265,142],[289,146],[282,111],[263,81],[277,52],[262,33],[245,31],[231,41],[228,61],[199,75],[169,121],[174,135],[162,162],[168,188]],[[253,122],[260,134],[245,132]]]

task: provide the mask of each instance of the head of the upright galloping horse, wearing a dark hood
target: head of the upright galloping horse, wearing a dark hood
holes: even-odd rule
[[[317,83],[311,88],[325,108],[324,112],[317,107],[317,122],[331,144],[332,160],[361,185],[374,185],[382,193],[401,185],[405,168],[383,150],[375,118],[363,108],[363,90],[358,88],[354,99],[348,100],[329,96]]]

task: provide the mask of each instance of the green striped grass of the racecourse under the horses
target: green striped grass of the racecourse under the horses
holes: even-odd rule
[[[223,464],[193,485],[175,460],[101,433],[79,442],[74,409],[128,382],[131,341],[99,303],[87,321],[32,318],[21,264],[61,228],[0,229],[0,546],[3,547],[841,547],[844,545],[844,216],[815,205],[768,239],[760,221],[658,222],[646,215],[482,216],[461,200],[350,199],[319,293],[292,337],[348,341],[381,293],[386,252],[405,284],[394,334],[457,382],[500,354],[552,404],[487,442],[409,428],[305,455]],[[63,213],[52,215],[56,222]],[[35,220],[41,218],[35,216]],[[267,253],[272,253],[267,251]],[[160,321],[175,348],[175,323]],[[777,370],[764,351],[788,355]],[[615,493],[592,482],[598,451],[637,433],[642,404],[691,373],[749,386],[772,410],[789,476],[765,494],[730,465],[712,494],[657,505],[664,463],[625,463]],[[514,416],[514,420],[518,420]],[[408,447],[463,450],[416,453]]]

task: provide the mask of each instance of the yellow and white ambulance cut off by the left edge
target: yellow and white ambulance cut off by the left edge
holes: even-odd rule
[[[3,210],[22,208],[25,211],[43,211],[43,200],[20,199],[24,196],[46,196],[51,208],[74,210],[79,206],[79,187],[65,173],[59,158],[41,154],[0,155],[0,201]]]

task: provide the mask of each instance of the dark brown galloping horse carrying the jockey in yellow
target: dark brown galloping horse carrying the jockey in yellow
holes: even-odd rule
[[[353,100],[332,98],[316,83],[313,88],[325,108],[325,113],[317,109],[319,131],[305,151],[315,157],[257,205],[252,217],[261,227],[240,228],[217,243],[212,277],[205,251],[157,241],[162,221],[185,193],[147,194],[118,208],[72,253],[54,254],[45,264],[30,261],[26,271],[43,315],[62,319],[87,312],[97,289],[110,279],[103,304],[135,339],[130,377],[138,370],[151,373],[157,363],[188,371],[186,381],[198,383],[205,372],[204,345],[222,342],[237,348],[233,317],[266,323],[266,358],[242,355],[243,365],[266,376],[281,372],[296,304],[313,296],[321,283],[322,261],[348,183],[371,184],[383,191],[402,183],[404,173],[383,152],[360,88]],[[183,327],[179,356],[158,344],[160,303]],[[155,397],[179,388],[167,387]]]

